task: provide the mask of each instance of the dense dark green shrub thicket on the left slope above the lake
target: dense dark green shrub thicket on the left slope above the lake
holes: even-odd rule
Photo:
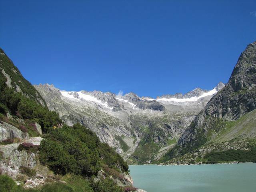
[[[120,155],[80,124],[49,129],[45,138],[39,149],[40,162],[48,165],[56,174],[91,176],[104,169],[102,164],[128,171],[128,165]]]

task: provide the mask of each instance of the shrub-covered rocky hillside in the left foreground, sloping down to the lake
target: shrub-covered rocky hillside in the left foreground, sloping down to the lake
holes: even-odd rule
[[[137,191],[113,148],[48,110],[2,50],[0,64],[0,191]]]

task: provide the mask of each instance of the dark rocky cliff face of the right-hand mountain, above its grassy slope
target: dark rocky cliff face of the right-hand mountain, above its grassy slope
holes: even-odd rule
[[[256,42],[240,55],[226,86],[212,97],[178,141],[172,156],[204,145],[224,126],[256,108]]]

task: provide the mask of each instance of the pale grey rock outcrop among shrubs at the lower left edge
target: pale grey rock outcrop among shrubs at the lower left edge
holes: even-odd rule
[[[24,142],[40,145],[42,139],[41,137],[35,137],[26,139]],[[40,165],[37,152],[18,150],[20,144],[22,144],[22,142],[0,145],[0,170],[2,174],[6,174],[16,181],[24,182],[25,188],[34,188],[44,185],[47,179],[52,179],[52,175],[49,175],[50,170],[46,166]],[[36,175],[28,177],[20,170],[21,167],[35,170]]]

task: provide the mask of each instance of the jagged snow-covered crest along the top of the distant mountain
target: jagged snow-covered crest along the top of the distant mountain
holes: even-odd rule
[[[209,97],[212,97],[214,94],[218,92],[225,85],[220,82],[216,87],[212,90],[202,90],[200,88],[196,88],[191,92],[186,94],[177,93],[174,95],[163,95],[158,96],[156,99],[150,97],[139,97],[138,95],[130,92],[125,94],[124,96],[116,96],[111,92],[100,92],[100,91],[60,91],[63,97],[69,98],[71,100],[80,100],[82,102],[90,104],[94,104],[98,107],[105,108],[107,110],[122,110],[124,105],[127,105],[127,108],[131,108],[134,110],[156,110],[156,111],[164,111],[166,110],[164,105],[174,104],[174,105],[186,105],[191,104],[192,102],[208,100]],[[115,109],[114,109],[115,108]]]

